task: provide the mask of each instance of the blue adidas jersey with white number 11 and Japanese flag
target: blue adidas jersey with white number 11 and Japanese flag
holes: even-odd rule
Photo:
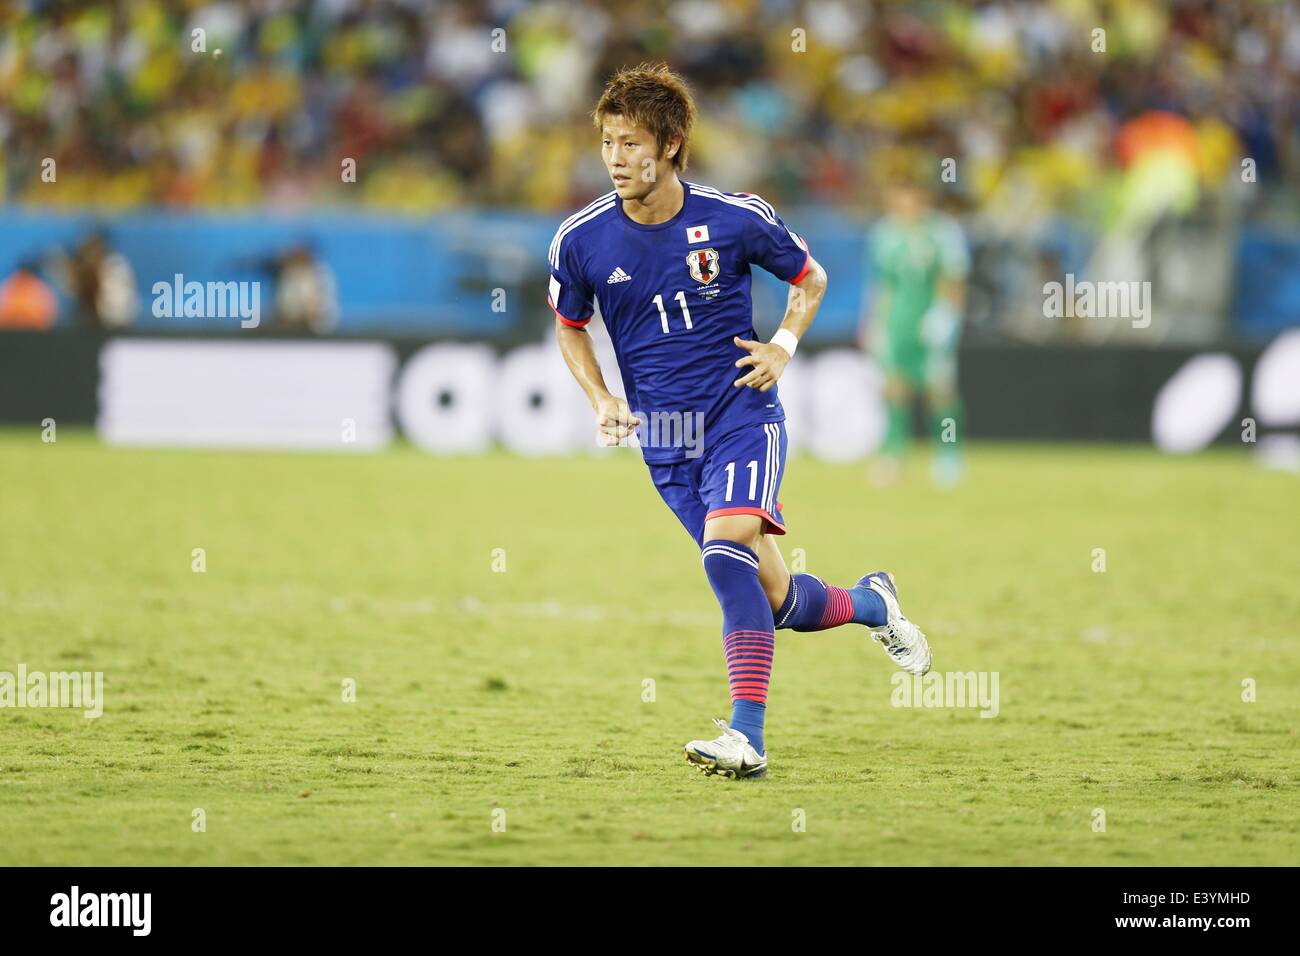
[[[682,189],[681,211],[667,222],[633,222],[614,193],[564,220],[551,241],[550,304],[581,326],[598,302],[632,411],[642,421],[690,415],[707,446],[785,419],[776,386],[733,384],[749,368],[736,368],[748,352],[732,338],[757,338],[750,265],[798,282],[809,250],[757,195]],[[646,462],[686,457],[680,442],[641,444]]]

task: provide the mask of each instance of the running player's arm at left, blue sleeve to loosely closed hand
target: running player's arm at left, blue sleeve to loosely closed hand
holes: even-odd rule
[[[563,229],[551,245],[550,267],[547,302],[555,312],[555,341],[560,346],[560,355],[586,394],[586,401],[592,403],[601,441],[618,445],[636,431],[641,420],[604,384],[592,336],[585,328],[592,321],[595,293],[584,280],[582,269],[575,259],[573,242],[566,241]]]

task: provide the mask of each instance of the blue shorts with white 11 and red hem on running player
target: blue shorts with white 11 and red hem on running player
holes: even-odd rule
[[[650,480],[696,542],[705,522],[722,515],[759,515],[763,532],[784,535],[776,499],[785,471],[785,423],[760,421],[723,436],[699,458],[649,463]]]

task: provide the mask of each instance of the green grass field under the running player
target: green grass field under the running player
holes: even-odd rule
[[[99,719],[0,709],[9,862],[1300,860],[1300,494],[1244,453],[984,446],[946,493],[793,459],[786,559],[896,571],[1000,713],[894,708],[863,628],[783,631],[771,773],[738,783],[681,756],[729,713],[720,619],[632,451],[10,429],[0,489],[0,671],[105,675]]]

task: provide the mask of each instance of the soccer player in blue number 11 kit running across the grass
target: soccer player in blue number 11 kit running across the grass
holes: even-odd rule
[[[614,190],[560,225],[550,247],[555,336],[586,393],[602,441],[637,434],[659,494],[701,548],[722,605],[731,723],[693,740],[706,774],[767,770],[763,718],[775,628],[864,624],[901,667],[930,670],[930,646],[904,617],[893,579],[852,588],[792,575],[776,546],[785,414],[776,381],[826,291],[826,272],[772,207],[749,193],[684,182],[696,107],[667,66],[620,70],[594,112]],[[771,342],[757,341],[750,265],[792,286]],[[582,328],[593,300],[614,342],[624,394],[606,388]],[[671,427],[662,428],[664,423]],[[686,434],[702,438],[685,442]],[[667,434],[666,434],[667,433]],[[667,437],[667,440],[664,440]]]

